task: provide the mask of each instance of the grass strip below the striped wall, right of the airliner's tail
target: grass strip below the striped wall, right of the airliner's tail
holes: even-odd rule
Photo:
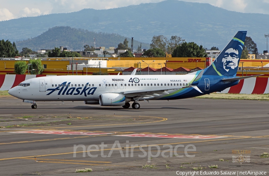
[[[232,94],[232,93],[211,93],[195,98],[212,98],[212,99],[237,99],[237,100],[260,100],[269,101],[269,94]]]

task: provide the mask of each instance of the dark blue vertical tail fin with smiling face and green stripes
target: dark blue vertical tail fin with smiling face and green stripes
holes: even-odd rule
[[[238,31],[203,75],[236,76],[247,31]]]

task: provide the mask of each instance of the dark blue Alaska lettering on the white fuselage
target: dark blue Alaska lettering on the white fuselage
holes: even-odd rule
[[[86,83],[84,87],[70,87],[71,82],[69,82],[66,85],[66,87],[62,86],[62,85],[65,85],[66,83],[67,82],[63,82],[62,84],[60,84],[60,86],[56,88],[47,89],[46,91],[51,91],[47,95],[50,95],[53,92],[59,90],[58,95],[82,95],[84,94],[84,96],[87,97],[87,95],[93,95],[95,90],[97,89],[97,87],[87,87],[89,83]]]

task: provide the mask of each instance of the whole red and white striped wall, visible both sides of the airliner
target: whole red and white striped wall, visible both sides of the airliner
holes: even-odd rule
[[[0,75],[0,90],[9,90],[17,86],[22,81],[30,78],[56,75]],[[227,88],[220,93],[239,93],[239,94],[265,94],[269,93],[268,77],[254,77],[240,80],[239,84]]]

